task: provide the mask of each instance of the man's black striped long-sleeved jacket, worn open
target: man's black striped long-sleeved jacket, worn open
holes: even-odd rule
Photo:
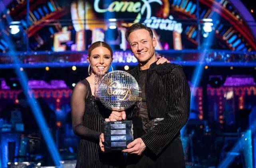
[[[138,81],[139,70],[136,66],[128,72]],[[190,87],[180,65],[155,62],[148,70],[145,90],[149,118],[164,119],[141,139],[158,155],[180,134],[189,118]]]

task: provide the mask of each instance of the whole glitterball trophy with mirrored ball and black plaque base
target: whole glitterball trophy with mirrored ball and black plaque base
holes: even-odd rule
[[[124,111],[141,101],[139,85],[131,74],[114,70],[97,77],[95,97],[113,111]],[[132,121],[104,122],[105,150],[123,150],[133,141]]]

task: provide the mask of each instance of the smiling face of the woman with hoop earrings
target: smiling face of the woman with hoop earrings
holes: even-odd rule
[[[111,53],[106,47],[96,47],[91,51],[91,55],[87,57],[91,64],[91,69],[94,74],[101,72],[105,74],[112,62]]]

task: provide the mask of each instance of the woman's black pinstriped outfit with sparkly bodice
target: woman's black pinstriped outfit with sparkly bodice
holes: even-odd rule
[[[103,133],[103,118],[111,113],[91,94],[87,80],[81,81],[87,90],[83,117],[72,115],[73,131],[81,137],[77,147],[77,168],[119,168],[124,164],[121,151],[103,153],[99,136]],[[100,109],[100,110],[99,110]]]

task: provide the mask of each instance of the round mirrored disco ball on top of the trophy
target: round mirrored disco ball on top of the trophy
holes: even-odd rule
[[[139,85],[131,74],[114,70],[99,82],[97,96],[105,107],[115,111],[126,110],[139,98]]]

